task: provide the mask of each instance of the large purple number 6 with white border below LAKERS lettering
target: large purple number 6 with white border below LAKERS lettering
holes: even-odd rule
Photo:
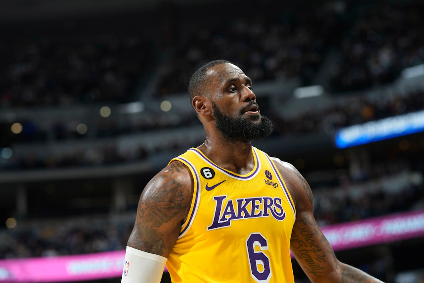
[[[259,247],[259,251],[255,251]],[[251,233],[246,240],[247,257],[249,258],[250,272],[257,283],[268,283],[271,279],[271,266],[265,253],[268,250],[268,241],[261,233]]]

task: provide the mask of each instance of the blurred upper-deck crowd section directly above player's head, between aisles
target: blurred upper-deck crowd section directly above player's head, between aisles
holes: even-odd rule
[[[178,40],[164,50],[158,95],[186,92],[192,73],[212,59],[231,60],[254,82],[299,77],[309,84],[326,50],[340,39],[344,6],[332,1],[304,5],[285,3],[280,10],[255,2],[251,13],[243,3],[232,17],[200,27],[190,14],[176,31]]]

